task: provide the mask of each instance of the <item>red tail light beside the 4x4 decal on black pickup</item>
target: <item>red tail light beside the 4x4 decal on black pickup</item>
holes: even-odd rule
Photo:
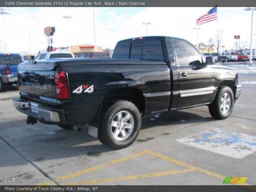
[[[55,91],[57,99],[69,99],[67,72],[55,71]]]

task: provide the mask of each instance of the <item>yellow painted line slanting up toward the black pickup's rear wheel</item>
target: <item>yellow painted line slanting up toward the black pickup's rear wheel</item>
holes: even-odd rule
[[[133,158],[138,157],[138,156],[142,156],[145,153],[146,153],[146,151],[140,151],[140,152],[135,153],[135,154],[133,154],[131,156],[123,157],[123,158],[116,159],[116,160],[110,161],[110,162],[102,164],[102,165],[98,165],[98,166],[95,166],[95,167],[91,167],[91,168],[88,168],[88,169],[84,169],[84,170],[81,170],[81,171],[70,173],[70,174],[65,175],[63,177],[60,177],[59,179],[65,180],[65,179],[70,179],[70,178],[73,178],[73,177],[77,177],[77,176],[83,175],[85,173],[96,171],[96,170],[98,170],[100,168],[108,167],[110,165],[114,165],[114,164],[117,164],[117,163],[129,160],[129,159],[133,159]]]

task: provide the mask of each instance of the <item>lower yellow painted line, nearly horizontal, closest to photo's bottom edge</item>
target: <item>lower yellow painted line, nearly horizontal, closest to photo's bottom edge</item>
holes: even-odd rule
[[[150,178],[150,177],[161,177],[161,176],[166,176],[166,175],[173,175],[173,174],[177,174],[177,173],[186,173],[186,172],[193,172],[193,171],[195,171],[195,170],[183,169],[183,170],[147,173],[147,174],[141,174],[141,175],[131,175],[131,176],[117,177],[117,178],[108,178],[108,179],[101,179],[101,180],[80,181],[79,183],[83,184],[83,185],[92,185],[92,184],[98,184],[98,183],[114,182],[114,181],[118,181],[118,180],[126,181],[126,180],[144,179],[144,178]]]

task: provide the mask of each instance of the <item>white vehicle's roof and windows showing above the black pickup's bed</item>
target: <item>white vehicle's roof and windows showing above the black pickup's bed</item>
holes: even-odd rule
[[[53,58],[74,58],[73,54],[65,51],[44,52],[36,55],[35,61]]]

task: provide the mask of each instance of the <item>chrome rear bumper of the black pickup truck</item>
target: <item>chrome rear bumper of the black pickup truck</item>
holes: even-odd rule
[[[14,107],[22,112],[27,114],[28,116],[35,117],[36,119],[44,122],[44,123],[65,123],[65,115],[63,109],[53,108],[46,105],[42,105],[40,103],[36,103],[38,105],[38,114],[31,111],[31,101],[21,99],[20,97],[12,98],[12,102]]]

